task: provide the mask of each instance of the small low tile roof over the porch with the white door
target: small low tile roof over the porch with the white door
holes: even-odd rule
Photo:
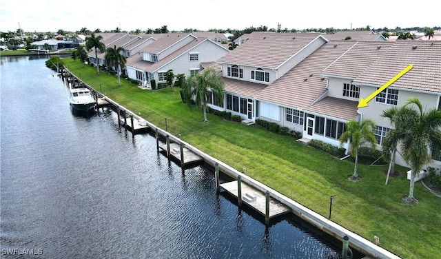
[[[342,118],[349,121],[358,116],[357,106],[357,101],[349,101],[335,97],[325,97],[317,103],[314,103],[314,105],[307,107],[305,110],[317,112],[318,114],[325,114],[334,118]]]

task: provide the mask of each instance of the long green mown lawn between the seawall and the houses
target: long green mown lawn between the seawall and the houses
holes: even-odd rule
[[[181,103],[178,89],[141,90],[107,72],[79,61],[63,59],[65,65],[96,90],[117,101],[158,127],[181,134],[184,141],[210,154],[261,183],[329,216],[329,196],[334,196],[332,220],[402,258],[439,258],[441,247],[441,198],[433,196],[420,182],[415,186],[417,205],[402,203],[409,194],[407,168],[397,167],[402,177],[384,185],[387,166],[360,165],[362,180],[346,180],[353,163],[339,160],[313,147],[296,143],[291,136],[267,132],[258,125],[224,121]],[[100,86],[101,85],[101,86]]]

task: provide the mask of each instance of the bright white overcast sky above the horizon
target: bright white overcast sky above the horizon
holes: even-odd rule
[[[238,29],[265,25],[268,28],[412,28],[441,25],[441,3],[433,0],[9,0],[0,6],[0,31],[75,32],[147,30],[180,31]],[[419,10],[419,11],[418,11]],[[434,10],[433,12],[427,10]]]

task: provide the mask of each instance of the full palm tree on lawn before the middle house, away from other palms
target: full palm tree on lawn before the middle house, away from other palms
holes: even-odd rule
[[[207,96],[214,94],[219,103],[223,102],[223,81],[216,75],[216,71],[207,68],[199,74],[190,76],[182,85],[183,99],[190,105],[194,99],[197,106],[203,105],[204,122],[207,122]]]

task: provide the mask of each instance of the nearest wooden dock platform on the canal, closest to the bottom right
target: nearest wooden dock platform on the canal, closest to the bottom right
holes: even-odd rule
[[[229,194],[238,198],[238,184],[237,180],[228,183],[220,184],[220,187],[225,189]],[[242,202],[252,207],[252,209],[256,210],[258,213],[266,216],[266,198],[265,193],[260,191],[243,181],[240,183],[242,189]],[[278,200],[269,197],[269,218],[274,218],[276,216],[280,216],[282,214],[289,213],[291,209],[286,205],[283,205]]]

